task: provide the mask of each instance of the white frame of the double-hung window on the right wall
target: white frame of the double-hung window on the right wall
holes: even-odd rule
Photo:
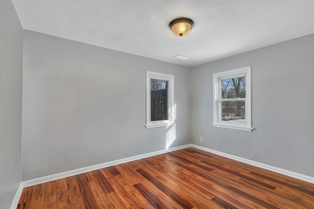
[[[245,98],[221,99],[221,80],[245,76]],[[245,122],[231,122],[220,120],[221,101],[245,101]],[[213,127],[234,129],[240,131],[252,131],[251,127],[251,66],[238,68],[213,74]]]

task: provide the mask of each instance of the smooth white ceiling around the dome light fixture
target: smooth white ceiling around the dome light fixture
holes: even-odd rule
[[[13,2],[24,29],[189,67],[314,33],[314,0]],[[184,37],[168,27],[179,17],[195,23]]]

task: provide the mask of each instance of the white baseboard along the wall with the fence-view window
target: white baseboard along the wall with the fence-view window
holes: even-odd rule
[[[123,158],[123,159],[118,159],[118,160],[113,160],[110,162],[105,162],[105,163],[101,163],[98,165],[92,165],[92,166],[88,166],[88,167],[84,167],[84,168],[78,168],[75,170],[71,170],[71,171],[66,171],[66,172],[62,172],[62,173],[58,173],[58,174],[52,174],[50,176],[45,176],[45,177],[40,177],[37,179],[32,179],[32,180],[28,180],[28,181],[24,181],[22,182],[23,187],[28,187],[28,186],[33,186],[33,185],[37,185],[40,183],[46,183],[46,182],[51,182],[54,180],[58,180],[58,179],[63,179],[63,178],[67,178],[70,176],[75,176],[78,174],[82,174],[82,173],[86,173],[86,172],[90,172],[90,171],[95,171],[98,169],[102,169],[102,168],[106,168],[109,166],[113,166],[113,165],[118,165],[121,163],[125,163],[125,162],[130,162],[130,161],[134,161],[137,159],[143,159],[146,157],[152,157],[152,156],[157,156],[160,154],[164,154],[164,153],[168,153],[168,152],[172,152],[172,151],[176,151],[176,150],[181,150],[184,148],[188,148],[191,147],[191,144],[187,144],[187,145],[183,145],[183,146],[179,146],[179,147],[174,147],[174,148],[169,148],[166,150],[160,150],[160,151],[156,151],[156,152],[152,152],[152,153],[146,153],[143,155],[138,155],[138,156],[133,156],[133,157],[127,157],[127,158]]]

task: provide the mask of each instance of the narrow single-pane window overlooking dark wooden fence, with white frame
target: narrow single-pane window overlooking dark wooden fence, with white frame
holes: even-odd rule
[[[146,128],[174,125],[174,76],[147,71]]]

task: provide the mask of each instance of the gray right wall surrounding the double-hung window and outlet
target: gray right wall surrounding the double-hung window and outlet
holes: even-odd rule
[[[246,66],[255,130],[213,128],[212,74]],[[192,68],[191,136],[193,144],[314,177],[314,34]]]

